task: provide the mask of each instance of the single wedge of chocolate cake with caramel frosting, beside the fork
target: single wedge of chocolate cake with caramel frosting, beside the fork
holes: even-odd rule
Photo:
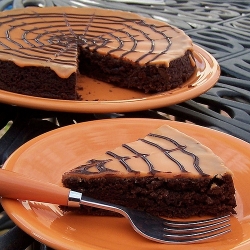
[[[236,207],[232,174],[223,161],[167,125],[64,173],[62,183],[86,196],[157,216],[215,216],[235,213]],[[86,206],[78,212],[110,214]]]

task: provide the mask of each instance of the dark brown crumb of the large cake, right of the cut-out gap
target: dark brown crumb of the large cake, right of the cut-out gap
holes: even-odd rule
[[[81,49],[79,54],[79,71],[83,75],[95,78],[118,87],[139,89],[145,93],[157,93],[179,87],[194,73],[191,65],[191,51],[183,57],[165,65],[145,65],[100,55],[96,51]]]

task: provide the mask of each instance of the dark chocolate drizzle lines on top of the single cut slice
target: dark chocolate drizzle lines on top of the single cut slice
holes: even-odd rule
[[[75,170],[73,170],[75,173],[83,173],[86,175],[96,175],[96,174],[100,174],[100,173],[106,173],[106,174],[115,174],[117,171],[113,170],[113,169],[109,169],[107,168],[105,165],[108,164],[109,162],[118,160],[118,162],[126,169],[126,171],[128,173],[134,173],[136,174],[140,174],[140,171],[138,170],[138,165],[140,165],[140,163],[136,163],[136,165],[130,165],[128,163],[128,161],[132,158],[140,158],[142,159],[148,166],[148,174],[150,175],[156,175],[156,174],[161,174],[161,173],[172,173],[169,170],[169,165],[170,165],[170,161],[172,161],[174,164],[176,164],[181,173],[189,173],[189,171],[186,170],[185,166],[180,162],[180,159],[182,158],[182,156],[179,156],[180,159],[176,159],[175,156],[172,156],[171,153],[175,152],[175,151],[179,151],[181,153],[183,153],[184,155],[189,156],[192,159],[192,165],[193,168],[197,171],[197,173],[201,176],[209,176],[208,174],[204,173],[204,171],[201,169],[201,167],[199,166],[199,157],[197,155],[195,155],[192,152],[189,152],[187,150],[187,146],[186,145],[181,145],[180,143],[178,143],[176,140],[171,139],[167,136],[163,136],[163,135],[159,135],[159,134],[155,134],[155,133],[150,133],[148,134],[149,137],[155,137],[155,138],[159,138],[162,139],[163,141],[167,141],[170,142],[167,143],[167,147],[169,148],[164,148],[162,146],[160,146],[159,144],[157,144],[156,142],[152,142],[149,141],[147,139],[139,139],[138,143],[141,143],[142,145],[140,145],[140,148],[144,148],[143,144],[148,144],[150,146],[152,146],[153,148],[156,148],[158,150],[158,153],[160,154],[164,154],[166,156],[165,158],[165,169],[166,171],[159,171],[157,170],[157,165],[155,165],[155,162],[151,161],[150,158],[150,154],[149,153],[142,153],[139,152],[137,149],[135,149],[133,146],[128,145],[128,144],[122,144],[122,147],[130,152],[133,153],[133,155],[131,156],[127,156],[126,155],[126,150],[123,151],[124,155],[118,155],[115,152],[112,151],[107,151],[106,154],[113,157],[111,159],[105,159],[105,160],[96,160],[96,159],[92,159],[90,161],[87,162],[87,164],[85,165],[81,165],[80,167],[76,168]],[[172,147],[174,146],[174,147]],[[159,156],[158,156],[159,157]],[[97,171],[93,171],[93,168],[96,169]]]

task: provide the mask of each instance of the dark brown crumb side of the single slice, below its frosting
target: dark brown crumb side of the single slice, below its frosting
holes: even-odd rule
[[[187,218],[235,213],[233,180],[230,175],[212,180],[203,178],[63,178],[65,187],[86,196],[142,210],[156,216]],[[64,211],[71,208],[61,207]],[[116,215],[113,212],[82,206],[78,213]]]

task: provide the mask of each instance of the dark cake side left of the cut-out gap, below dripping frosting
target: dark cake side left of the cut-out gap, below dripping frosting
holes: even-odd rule
[[[11,61],[0,61],[0,89],[37,97],[79,100],[76,74],[60,78],[48,67],[18,67]]]

